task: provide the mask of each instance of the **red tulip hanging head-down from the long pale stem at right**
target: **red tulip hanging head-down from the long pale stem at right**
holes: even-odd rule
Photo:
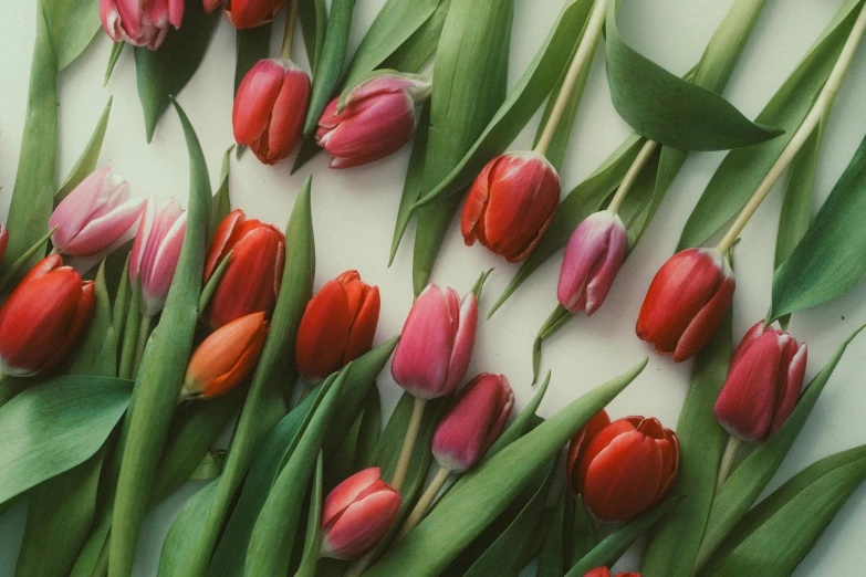
[[[709,342],[733,301],[731,266],[716,249],[678,252],[656,273],[637,318],[638,338],[680,363]]]

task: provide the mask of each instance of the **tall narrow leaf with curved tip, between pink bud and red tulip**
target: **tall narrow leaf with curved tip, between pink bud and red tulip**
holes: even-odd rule
[[[135,546],[147,513],[144,495],[150,491],[168,436],[198,321],[210,224],[210,181],[196,133],[176,102],[175,108],[189,153],[187,229],[177,271],[159,321],[170,331],[157,331],[148,340],[129,401],[129,434],[117,481],[108,556],[112,575],[129,575],[132,571]]]

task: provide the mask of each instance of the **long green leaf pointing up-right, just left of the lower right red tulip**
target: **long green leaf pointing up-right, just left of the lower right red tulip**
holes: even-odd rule
[[[394,545],[366,576],[438,575],[593,415],[640,374],[646,363],[644,360],[623,376],[571,402],[479,466],[470,482],[451,491],[448,499]],[[462,522],[455,523],[456,518]]]

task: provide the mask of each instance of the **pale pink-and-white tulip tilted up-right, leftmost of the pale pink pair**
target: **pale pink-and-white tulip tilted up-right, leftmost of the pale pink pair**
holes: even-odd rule
[[[142,214],[144,199],[129,196],[129,183],[107,166],[85,178],[49,220],[61,254],[93,256],[111,249]]]

